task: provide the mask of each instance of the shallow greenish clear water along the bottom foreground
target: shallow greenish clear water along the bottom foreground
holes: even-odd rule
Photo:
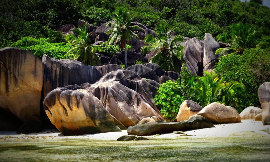
[[[0,161],[270,161],[270,139],[1,140]]]

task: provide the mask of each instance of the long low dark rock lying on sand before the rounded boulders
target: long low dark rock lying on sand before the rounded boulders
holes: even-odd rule
[[[187,131],[193,129],[202,129],[215,127],[208,119],[200,115],[191,116],[188,120],[181,122],[164,122],[164,121],[151,121],[144,124],[137,124],[135,126],[130,126],[127,129],[129,135],[156,135],[171,133],[173,131]]]

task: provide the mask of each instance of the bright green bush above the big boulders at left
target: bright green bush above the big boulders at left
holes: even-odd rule
[[[70,44],[67,44],[65,42],[49,43],[48,38],[36,39],[32,37],[23,37],[21,40],[14,42],[12,46],[31,51],[40,59],[44,54],[51,58],[57,59],[66,59],[73,57],[73,54],[70,54],[66,57],[64,56],[66,52],[72,48]]]

